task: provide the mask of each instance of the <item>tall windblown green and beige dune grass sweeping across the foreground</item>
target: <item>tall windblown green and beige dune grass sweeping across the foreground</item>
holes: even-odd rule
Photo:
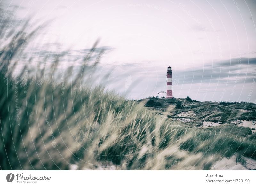
[[[63,57],[58,55],[50,75],[45,68],[32,71],[45,79],[22,73],[26,66],[15,76],[14,57],[33,33],[13,32],[1,53],[0,169],[67,170],[75,164],[74,169],[92,170],[205,170],[215,154],[236,155],[242,164],[242,156],[256,159],[255,134],[249,128],[180,125],[147,108],[161,106],[159,100],[127,101],[104,87],[90,87],[86,82],[100,52],[92,65],[86,60],[97,43],[77,73],[67,68],[61,82],[52,78],[58,77]]]

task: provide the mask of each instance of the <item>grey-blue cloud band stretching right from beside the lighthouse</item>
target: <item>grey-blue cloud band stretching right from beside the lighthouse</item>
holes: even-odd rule
[[[193,83],[248,83],[256,70],[256,58],[234,58],[184,71],[174,71],[173,78],[180,84]]]

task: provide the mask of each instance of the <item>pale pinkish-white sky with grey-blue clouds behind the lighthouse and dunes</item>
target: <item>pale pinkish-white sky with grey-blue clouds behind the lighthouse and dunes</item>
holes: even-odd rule
[[[31,25],[48,23],[34,50],[76,56],[99,39],[107,52],[98,80],[110,72],[104,85],[127,98],[166,91],[170,65],[174,97],[256,101],[254,0],[0,0],[0,7]]]

